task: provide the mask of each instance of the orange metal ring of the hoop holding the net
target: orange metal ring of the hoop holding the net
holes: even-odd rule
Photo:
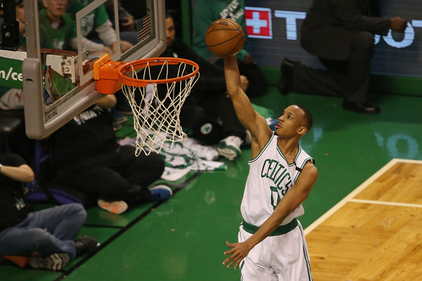
[[[146,67],[146,65],[149,63],[150,66],[155,65],[164,65],[165,63],[168,63],[169,65],[178,65],[180,63],[185,63],[186,65],[191,65],[194,67],[193,72],[183,75],[181,77],[175,77],[171,79],[157,79],[157,80],[151,80],[151,79],[136,79],[127,77],[127,72],[132,71],[132,67],[134,70],[138,70],[140,68]],[[186,60],[184,58],[143,58],[141,60],[134,60],[133,62],[124,63],[123,65],[120,65],[117,67],[117,71],[119,72],[119,81],[122,84],[128,85],[128,86],[146,86],[146,84],[165,84],[165,83],[172,83],[172,82],[178,82],[186,80],[190,77],[195,76],[198,74],[199,66],[197,63],[193,62],[192,60]]]

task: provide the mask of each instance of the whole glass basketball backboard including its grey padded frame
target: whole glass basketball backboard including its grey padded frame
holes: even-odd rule
[[[24,0],[27,56],[22,72],[28,137],[49,136],[101,98],[93,65],[103,53],[111,51],[111,60],[129,62],[165,50],[165,0],[136,2],[139,11],[128,29],[122,25],[126,15],[117,0]]]

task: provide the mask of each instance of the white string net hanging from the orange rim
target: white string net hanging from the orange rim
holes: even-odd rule
[[[130,77],[143,80],[173,79],[193,72],[193,66],[186,63],[169,65],[146,64],[137,72],[132,66]],[[199,72],[193,77],[181,81],[155,84],[145,87],[122,85],[122,92],[129,100],[134,112],[134,129],[136,131],[136,152],[149,155],[165,148],[171,150],[174,143],[186,138],[180,125],[179,115],[186,97],[198,81]]]

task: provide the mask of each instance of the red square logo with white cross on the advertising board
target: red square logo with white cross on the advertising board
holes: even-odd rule
[[[269,8],[245,7],[248,37],[272,39],[271,10]]]

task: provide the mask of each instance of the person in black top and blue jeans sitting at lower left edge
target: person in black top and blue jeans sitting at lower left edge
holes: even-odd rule
[[[93,251],[97,240],[74,240],[87,218],[81,204],[31,212],[23,200],[23,183],[33,180],[34,172],[20,155],[0,155],[0,256],[30,256],[32,268],[60,270]]]

